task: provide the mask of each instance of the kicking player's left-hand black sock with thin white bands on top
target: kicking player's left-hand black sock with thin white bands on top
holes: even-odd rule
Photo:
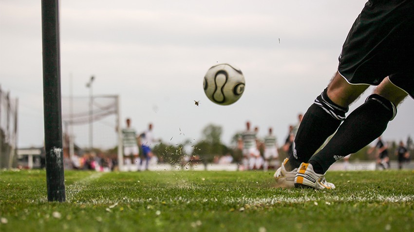
[[[294,152],[289,156],[287,170],[307,163],[325,140],[333,134],[345,119],[348,107],[335,104],[328,98],[327,89],[315,99],[303,116],[295,137]]]

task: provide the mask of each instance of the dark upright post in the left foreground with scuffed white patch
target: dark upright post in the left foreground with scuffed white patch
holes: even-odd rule
[[[65,201],[58,0],[42,0],[43,111],[48,201]]]

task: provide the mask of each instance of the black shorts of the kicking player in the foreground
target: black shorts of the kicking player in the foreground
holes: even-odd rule
[[[378,85],[387,76],[414,98],[414,0],[370,0],[339,56],[351,84]]]

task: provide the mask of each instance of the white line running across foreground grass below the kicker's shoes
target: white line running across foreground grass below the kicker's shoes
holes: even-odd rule
[[[113,199],[89,199],[84,202],[76,202],[79,204],[117,204],[117,203],[179,203],[179,204],[190,204],[198,202],[219,202],[221,204],[247,204],[247,205],[277,205],[280,203],[304,203],[304,202],[325,202],[326,204],[331,204],[334,202],[412,202],[414,201],[414,195],[401,195],[401,196],[381,196],[376,195],[372,197],[338,197],[338,196],[325,196],[325,197],[269,197],[269,198],[212,198],[212,199],[199,199],[199,198],[148,198],[148,199],[131,199],[128,197],[123,197],[121,200]]]

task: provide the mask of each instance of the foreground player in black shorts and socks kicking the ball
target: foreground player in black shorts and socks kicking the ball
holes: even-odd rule
[[[379,137],[398,104],[414,98],[413,32],[413,0],[365,4],[344,42],[338,71],[303,116],[293,155],[275,173],[277,182],[295,172],[296,187],[335,188],[325,179],[328,168]],[[377,85],[374,93],[345,117],[369,85]]]

